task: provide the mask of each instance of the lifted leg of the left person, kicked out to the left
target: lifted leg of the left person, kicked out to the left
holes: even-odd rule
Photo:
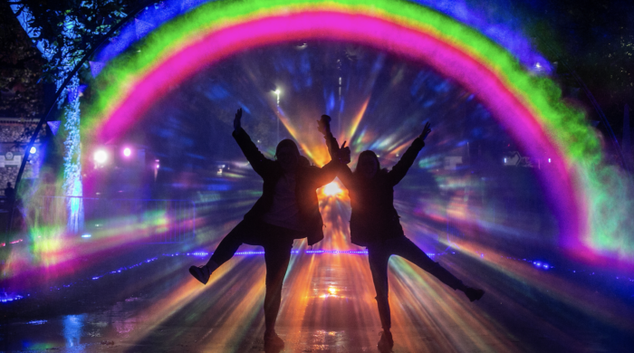
[[[216,251],[211,255],[207,264],[200,267],[191,266],[189,267],[189,273],[201,283],[207,284],[211,273],[234,256],[234,253],[244,242],[245,235],[249,232],[253,232],[252,228],[252,224],[248,221],[242,221],[237,224],[235,228],[220,241],[216,247]]]

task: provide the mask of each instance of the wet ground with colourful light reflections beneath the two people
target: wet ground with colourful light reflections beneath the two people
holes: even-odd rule
[[[394,352],[616,352],[634,347],[634,325],[624,315],[631,313],[631,302],[614,301],[610,308],[593,310],[604,310],[603,314],[584,312],[477,259],[455,254],[437,261],[487,293],[482,301],[471,303],[462,293],[393,257],[389,281]],[[214,273],[207,286],[188,275],[192,262],[201,260],[164,258],[143,270],[121,273],[133,280],[119,281],[127,286],[137,279],[139,294],[114,304],[101,305],[113,292],[124,290],[112,284],[116,282],[85,294],[93,309],[71,302],[63,309],[66,314],[52,317],[36,318],[36,308],[25,310],[30,314],[24,316],[13,312],[2,324],[0,348],[263,351],[264,257],[236,256]],[[550,274],[542,276],[548,281]],[[283,352],[377,351],[380,324],[373,297],[365,254],[293,255],[277,325],[285,341]],[[588,300],[605,299],[595,294]],[[29,309],[42,303],[25,299],[20,305]],[[610,322],[610,312],[621,320]]]

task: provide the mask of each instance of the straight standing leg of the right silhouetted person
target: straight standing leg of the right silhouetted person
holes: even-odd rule
[[[377,292],[375,299],[379,308],[379,318],[383,332],[379,339],[379,350],[389,351],[394,347],[394,340],[389,331],[392,321],[389,312],[389,285],[388,285],[388,262],[389,250],[382,244],[376,243],[368,246],[368,262],[370,262],[370,272],[374,282],[374,290]]]

